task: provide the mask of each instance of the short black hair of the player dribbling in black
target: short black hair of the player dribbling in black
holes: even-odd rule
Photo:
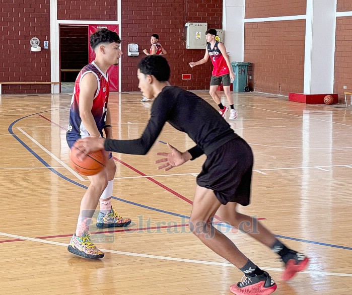
[[[148,55],[138,63],[138,68],[144,75],[153,75],[159,82],[168,81],[170,78],[170,65],[161,55]]]

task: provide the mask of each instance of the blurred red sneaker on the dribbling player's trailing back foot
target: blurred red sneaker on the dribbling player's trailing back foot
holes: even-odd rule
[[[281,278],[285,281],[292,279],[297,272],[305,270],[309,264],[307,256],[293,250],[290,250],[281,260],[285,262],[285,270],[281,275]]]

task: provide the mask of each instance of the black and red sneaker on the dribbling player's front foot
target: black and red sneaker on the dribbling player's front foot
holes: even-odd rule
[[[230,291],[237,295],[268,295],[275,291],[276,288],[275,281],[264,271],[263,274],[254,277],[244,275],[241,282],[230,287]]]

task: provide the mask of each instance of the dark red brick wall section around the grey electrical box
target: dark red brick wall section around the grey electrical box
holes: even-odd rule
[[[182,41],[184,24],[205,22],[208,28],[222,28],[222,0],[145,0],[143,2],[122,2],[122,91],[138,91],[136,66],[145,56],[127,57],[127,44],[137,43],[140,51],[150,48],[150,37],[157,33],[160,43],[168,54],[165,56],[171,66],[171,83],[185,89],[209,89],[213,65],[207,63],[190,68],[190,61],[204,56],[205,49],[185,49]],[[184,32],[185,33],[185,32]],[[182,73],[191,73],[191,80],[181,80]]]

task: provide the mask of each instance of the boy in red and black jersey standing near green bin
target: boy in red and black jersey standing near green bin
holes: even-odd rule
[[[237,112],[234,108],[234,102],[230,93],[230,84],[231,80],[235,79],[234,72],[230,63],[229,56],[227,55],[225,45],[215,39],[217,36],[216,29],[209,29],[205,32],[205,39],[208,44],[205,48],[205,55],[202,59],[196,62],[190,62],[190,67],[195,65],[203,64],[208,61],[209,56],[212,59],[214,69],[212,72],[212,79],[210,80],[210,89],[209,93],[219,106],[219,113],[225,117],[225,113],[229,110],[227,106],[223,106],[220,101],[220,97],[217,94],[218,86],[223,83],[224,92],[227,98],[227,101],[230,105],[230,120],[234,120],[237,117]]]

